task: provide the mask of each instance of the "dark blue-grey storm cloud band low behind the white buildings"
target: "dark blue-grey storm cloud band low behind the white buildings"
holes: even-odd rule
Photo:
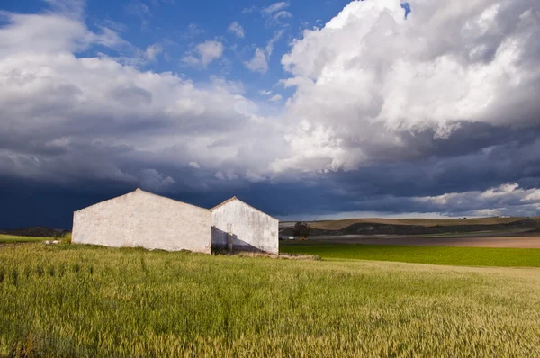
[[[69,185],[32,183],[31,190],[13,191],[16,183],[3,183],[4,191],[0,192],[0,196],[21,204],[4,209],[5,213],[1,216],[4,220],[0,226],[55,223],[58,227],[69,228],[72,210],[129,192],[141,185],[146,190],[206,208],[236,195],[261,210],[281,217],[302,215],[316,218],[337,212],[347,217],[347,212],[359,211],[385,214],[438,212],[452,216],[535,215],[540,196],[527,202],[523,200],[531,195],[527,188],[540,187],[540,139],[524,137],[522,141],[514,137],[509,144],[491,147],[489,151],[473,148],[471,153],[457,157],[397,161],[365,166],[357,171],[305,175],[300,179],[276,183],[223,181],[209,170],[167,165],[157,166],[157,173],[164,175],[150,178],[147,186],[144,181],[136,180],[131,183],[103,177],[90,180],[88,178],[93,176],[89,173],[81,175],[81,181],[70,188]],[[135,178],[144,167],[144,163],[133,166],[127,161],[123,164],[122,173]],[[61,176],[61,172],[58,175]],[[156,184],[156,180],[165,180],[166,177],[175,178],[174,183],[165,187]],[[482,192],[499,188],[505,183],[518,183],[519,188],[526,192],[513,189],[501,197],[482,196]],[[461,194],[457,194],[454,200],[437,201],[438,196],[448,192]],[[436,199],[430,200],[430,197]],[[47,215],[40,216],[43,201],[55,209],[56,216],[49,211]],[[482,211],[485,209],[500,210]],[[22,217],[14,219],[14,213]]]

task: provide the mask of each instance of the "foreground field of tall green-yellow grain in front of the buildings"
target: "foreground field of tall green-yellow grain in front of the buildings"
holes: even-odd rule
[[[0,246],[0,356],[540,356],[540,270]]]

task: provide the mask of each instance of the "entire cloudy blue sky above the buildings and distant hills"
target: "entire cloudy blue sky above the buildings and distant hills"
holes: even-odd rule
[[[4,0],[0,228],[137,187],[278,219],[540,215],[537,0]]]

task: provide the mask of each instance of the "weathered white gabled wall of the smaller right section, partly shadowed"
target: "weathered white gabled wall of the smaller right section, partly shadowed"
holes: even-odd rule
[[[279,253],[279,220],[234,199],[211,210],[212,246],[225,248],[231,230],[233,250]]]

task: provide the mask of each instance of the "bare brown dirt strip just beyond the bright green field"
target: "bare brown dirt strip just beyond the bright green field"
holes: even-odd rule
[[[522,237],[324,237],[335,244],[540,248],[540,236]]]

